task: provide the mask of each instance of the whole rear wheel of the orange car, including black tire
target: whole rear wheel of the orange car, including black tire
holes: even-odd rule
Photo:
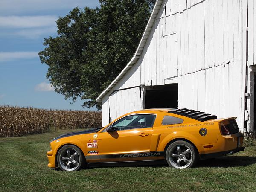
[[[171,143],[165,155],[168,165],[177,169],[193,167],[198,160],[195,147],[183,140]]]

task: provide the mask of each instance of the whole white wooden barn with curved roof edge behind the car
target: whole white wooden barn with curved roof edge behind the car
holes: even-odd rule
[[[254,36],[254,0],[157,0],[131,61],[96,99],[103,126],[140,109],[189,108],[256,130]]]

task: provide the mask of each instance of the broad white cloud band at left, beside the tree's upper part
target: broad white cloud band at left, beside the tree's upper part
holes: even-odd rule
[[[2,28],[35,28],[55,26],[56,16],[0,16],[0,27]]]

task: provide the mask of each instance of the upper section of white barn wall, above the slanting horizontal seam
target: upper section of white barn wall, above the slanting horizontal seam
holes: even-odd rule
[[[240,0],[163,3],[141,55],[141,84],[240,61],[240,12]]]

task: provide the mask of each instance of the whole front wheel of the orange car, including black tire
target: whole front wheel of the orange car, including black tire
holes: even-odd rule
[[[58,151],[57,162],[63,171],[76,171],[84,167],[85,157],[80,148],[75,145],[64,145]]]

